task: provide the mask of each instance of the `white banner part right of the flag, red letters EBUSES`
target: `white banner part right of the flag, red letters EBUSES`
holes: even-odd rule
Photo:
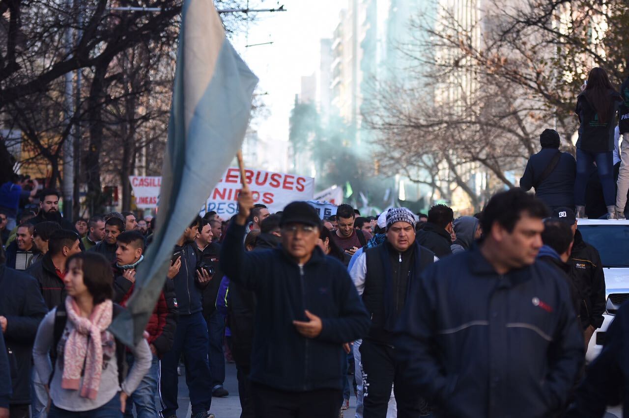
[[[245,180],[255,203],[262,203],[274,213],[295,200],[311,200],[315,191],[315,179],[295,174],[274,173],[256,169],[245,169]],[[205,212],[231,217],[238,212],[240,192],[240,170],[228,168],[218,182],[205,207]]]

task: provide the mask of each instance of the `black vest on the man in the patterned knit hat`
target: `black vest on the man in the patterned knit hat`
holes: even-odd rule
[[[418,272],[413,272],[415,262],[415,246],[417,242],[402,254],[393,249],[391,244],[384,242],[377,247],[365,250],[367,263],[367,274],[365,275],[365,289],[362,294],[362,301],[371,316],[371,328],[367,339],[382,344],[390,344],[391,332],[387,326],[387,315],[385,303],[389,304],[389,309],[394,309],[399,314],[401,308],[406,303],[411,281],[419,280],[420,274],[428,265],[435,261],[435,254],[425,247],[420,246],[420,262]],[[385,274],[383,257],[389,257],[391,271]],[[399,262],[399,259],[402,262]],[[402,274],[399,274],[399,271]],[[385,301],[387,286],[387,276],[390,277],[391,296]],[[396,276],[396,277],[394,277]]]

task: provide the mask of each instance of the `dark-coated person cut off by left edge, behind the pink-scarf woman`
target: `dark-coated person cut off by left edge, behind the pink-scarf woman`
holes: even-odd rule
[[[0,264],[4,254],[0,254]],[[0,265],[0,329],[4,334],[9,362],[17,366],[13,376],[11,417],[28,417],[31,404],[31,364],[37,327],[48,313],[33,277]]]

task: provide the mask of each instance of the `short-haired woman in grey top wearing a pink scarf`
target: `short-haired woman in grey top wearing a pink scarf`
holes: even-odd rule
[[[48,418],[122,417],[126,399],[151,365],[147,341],[130,347],[135,363],[119,383],[116,341],[108,331],[114,311],[111,266],[103,255],[82,252],[67,260],[65,271],[67,321],[57,344],[55,367],[48,352],[54,343],[58,308],[43,319],[33,346],[37,374],[44,382],[52,375]]]

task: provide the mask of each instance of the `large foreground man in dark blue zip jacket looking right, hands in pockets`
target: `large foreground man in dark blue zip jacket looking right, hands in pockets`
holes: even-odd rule
[[[535,260],[546,215],[521,189],[498,193],[479,248],[431,265],[411,288],[394,345],[435,416],[546,418],[565,408],[584,345],[565,279]]]

